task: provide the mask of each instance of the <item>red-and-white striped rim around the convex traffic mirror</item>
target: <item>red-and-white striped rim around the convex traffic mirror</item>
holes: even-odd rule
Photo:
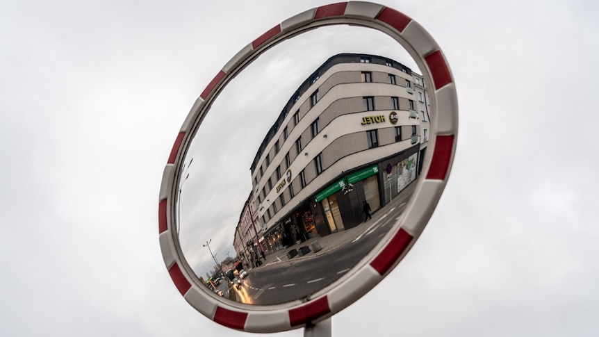
[[[406,211],[386,238],[358,265],[309,302],[276,306],[250,306],[221,299],[199,285],[199,280],[179,247],[175,204],[179,167],[215,96],[234,75],[259,54],[285,38],[309,28],[331,24],[354,24],[382,31],[407,49],[427,83],[432,83],[431,132],[434,147],[425,157],[420,179]],[[431,89],[431,88],[429,88]],[[158,203],[158,229],[166,268],[181,295],[197,311],[226,327],[249,332],[277,332],[304,327],[334,315],[368,293],[407,254],[431,217],[445,188],[455,154],[458,129],[457,94],[450,67],[432,37],[406,15],[361,1],[333,3],[307,10],[274,26],[241,49],[224,65],[192,106],[172,147],[163,173]]]

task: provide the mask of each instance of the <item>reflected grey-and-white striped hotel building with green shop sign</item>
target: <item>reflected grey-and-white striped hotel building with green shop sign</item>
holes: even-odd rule
[[[253,242],[261,240],[268,254],[356,227],[363,202],[375,212],[415,181],[429,125],[424,84],[408,67],[375,55],[338,54],[316,69],[250,167],[248,200],[263,229]],[[244,238],[236,239],[238,254]]]

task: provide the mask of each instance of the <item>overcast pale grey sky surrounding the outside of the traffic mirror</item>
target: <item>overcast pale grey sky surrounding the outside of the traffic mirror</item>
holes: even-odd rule
[[[172,284],[158,245],[162,172],[222,66],[327,3],[0,4],[2,336],[246,335]],[[596,336],[599,6],[379,3],[447,56],[458,149],[418,243],[334,316],[334,336]]]

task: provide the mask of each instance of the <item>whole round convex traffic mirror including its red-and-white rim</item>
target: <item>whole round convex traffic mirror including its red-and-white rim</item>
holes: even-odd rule
[[[350,2],[286,20],[224,66],[174,144],[159,220],[175,285],[234,329],[333,315],[416,241],[456,135],[450,70],[409,17]]]

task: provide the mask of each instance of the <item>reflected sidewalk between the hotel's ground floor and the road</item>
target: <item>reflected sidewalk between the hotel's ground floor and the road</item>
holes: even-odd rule
[[[281,249],[272,254],[268,254],[265,258],[265,261],[262,262],[261,267],[264,267],[265,265],[272,265],[275,263],[293,262],[305,258],[313,258],[315,256],[327,254],[328,252],[331,252],[332,250],[337,249],[338,247],[345,245],[346,243],[352,242],[352,240],[354,240],[355,238],[363,234],[365,231],[367,231],[372,226],[372,224],[376,224],[377,222],[379,222],[379,220],[381,220],[381,218],[383,218],[384,215],[387,215],[392,210],[395,210],[395,208],[407,204],[415,186],[416,183],[411,183],[409,186],[407,186],[407,188],[402,190],[402,192],[400,192],[400,195],[394,197],[389,204],[386,204],[385,206],[375,211],[375,213],[372,213],[372,219],[369,219],[366,222],[361,222],[361,224],[357,225],[356,227],[352,227],[350,229],[345,229],[342,231],[337,231],[327,236],[315,236],[314,238],[309,238],[303,243],[296,243],[294,245],[291,245],[290,247],[286,247],[285,249]],[[321,249],[318,252],[314,252],[314,243],[320,245],[321,247]],[[300,247],[304,246],[309,247],[310,252],[304,254],[303,256],[300,256]],[[293,249],[297,249],[298,254],[293,256],[292,258],[289,258],[287,253]]]

